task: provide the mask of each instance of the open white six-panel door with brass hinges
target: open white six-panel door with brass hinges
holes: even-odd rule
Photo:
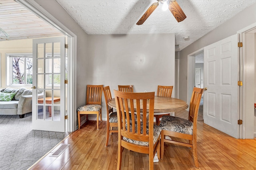
[[[204,48],[204,123],[239,138],[238,35]]]

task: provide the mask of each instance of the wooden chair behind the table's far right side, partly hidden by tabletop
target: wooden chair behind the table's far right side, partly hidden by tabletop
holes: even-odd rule
[[[157,87],[157,93],[156,96],[164,96],[164,97],[172,97],[172,88],[173,86],[159,86]],[[154,115],[156,117],[156,124],[160,124],[160,118],[162,118],[164,115],[170,115],[170,113],[162,114],[162,115]]]

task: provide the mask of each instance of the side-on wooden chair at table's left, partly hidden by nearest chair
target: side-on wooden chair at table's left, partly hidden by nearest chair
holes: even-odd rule
[[[108,140],[109,140],[109,133],[112,134],[112,132],[118,132],[118,130],[117,130],[118,123],[117,123],[116,111],[113,112],[113,108],[108,106],[108,102],[112,99],[109,86],[103,87],[103,93],[105,96],[106,108],[107,108],[107,137],[106,137],[106,147],[107,147]],[[113,130],[113,127],[116,127],[116,129]]]

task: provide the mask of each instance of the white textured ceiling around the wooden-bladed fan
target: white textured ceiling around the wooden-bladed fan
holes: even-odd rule
[[[156,0],[56,0],[88,34],[175,33],[180,51],[256,0],[176,0],[187,18],[177,22],[163,4],[142,25],[137,21]],[[184,40],[184,37],[189,37]]]

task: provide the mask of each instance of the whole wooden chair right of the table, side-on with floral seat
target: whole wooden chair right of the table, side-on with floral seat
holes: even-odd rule
[[[164,142],[174,143],[193,150],[194,163],[198,168],[197,150],[196,150],[196,125],[200,100],[204,89],[194,87],[189,105],[188,119],[182,119],[174,116],[163,116],[160,127],[161,131],[161,159],[164,157]],[[170,136],[171,140],[165,139]],[[187,139],[189,142],[180,142],[174,138]]]

